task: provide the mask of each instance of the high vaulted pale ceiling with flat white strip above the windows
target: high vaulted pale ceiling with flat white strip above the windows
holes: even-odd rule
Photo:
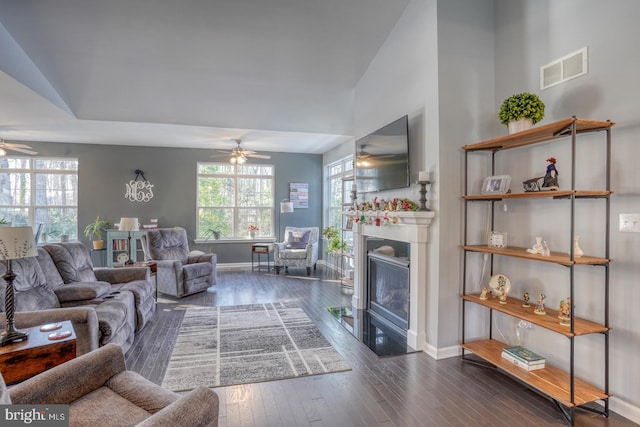
[[[0,138],[323,153],[409,0],[0,0]]]

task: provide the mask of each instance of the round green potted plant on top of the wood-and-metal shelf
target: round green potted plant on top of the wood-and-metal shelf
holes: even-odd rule
[[[509,133],[529,129],[544,118],[544,102],[529,92],[511,95],[502,102],[498,118]]]

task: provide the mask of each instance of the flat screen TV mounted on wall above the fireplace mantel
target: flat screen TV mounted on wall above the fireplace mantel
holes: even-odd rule
[[[361,193],[409,186],[407,116],[356,141],[356,181]]]

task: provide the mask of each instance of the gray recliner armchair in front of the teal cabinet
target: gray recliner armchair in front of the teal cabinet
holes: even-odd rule
[[[216,283],[216,254],[191,254],[184,228],[158,228],[140,238],[145,258],[157,263],[158,291],[183,297]]]

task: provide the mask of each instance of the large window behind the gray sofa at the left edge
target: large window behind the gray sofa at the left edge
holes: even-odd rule
[[[0,158],[0,218],[42,224],[40,241],[78,238],[78,160]]]

